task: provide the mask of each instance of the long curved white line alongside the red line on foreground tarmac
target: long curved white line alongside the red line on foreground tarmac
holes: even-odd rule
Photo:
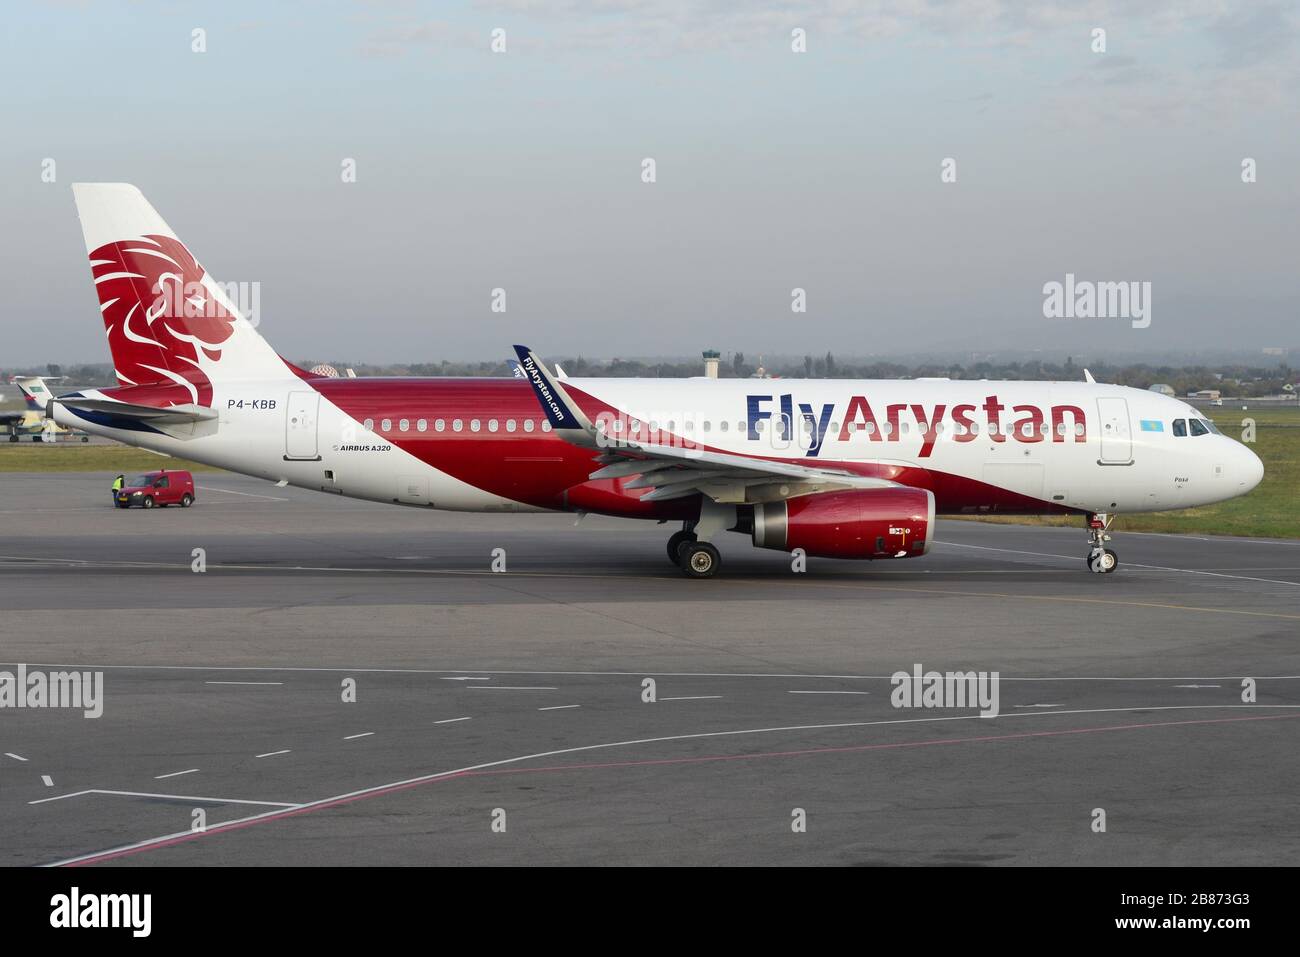
[[[689,741],[701,740],[710,737],[736,737],[742,735],[772,735],[772,733],[788,733],[796,731],[833,731],[841,728],[868,728],[892,724],[933,724],[939,722],[997,722],[1009,718],[1058,718],[1061,715],[1079,715],[1079,714],[1114,714],[1114,713],[1130,713],[1130,711],[1291,711],[1300,709],[1300,705],[1158,705],[1154,707],[1093,707],[1093,709],[1080,709],[1075,711],[1020,711],[1020,713],[1006,713],[984,718],[979,714],[963,714],[963,715],[941,715],[941,716],[927,716],[927,718],[889,718],[881,720],[870,722],[840,722],[835,724],[793,724],[786,727],[776,728],[740,728],[734,731],[702,731],[688,735],[666,735],[662,737],[642,737],[632,739],[627,741],[608,741],[603,744],[589,744],[578,745],[575,748],[560,748],[550,752],[536,752],[533,754],[520,754],[514,758],[502,758],[499,761],[488,761],[481,765],[469,765],[467,767],[458,767],[450,771],[438,771],[436,774],[420,775],[419,778],[407,778],[399,781],[390,781],[387,784],[377,784],[369,788],[360,788],[358,791],[348,791],[342,794],[334,794],[332,797],[322,797],[316,801],[306,801],[299,805],[291,805],[291,810],[311,810],[315,807],[322,807],[326,805],[338,804],[339,801],[348,801],[359,797],[365,797],[369,794],[380,794],[394,788],[402,788],[413,784],[426,784],[436,780],[442,780],[446,778],[454,778],[458,775],[469,774],[471,771],[485,771],[494,767],[504,767],[507,765],[517,765],[525,761],[536,761],[540,758],[554,758],[562,754],[578,754],[584,752],[606,750],[611,748],[630,748],[644,744],[663,744],[667,741]],[[264,818],[273,818],[282,814],[283,810],[263,811],[261,814],[252,814],[247,818],[238,818],[235,820],[226,820],[221,824],[209,828],[203,832],[204,836],[212,836],[222,831],[239,827],[242,824],[251,824],[256,820]],[[112,854],[122,854],[130,850],[140,850],[150,846],[156,846],[166,844],[168,841],[176,840],[188,840],[195,839],[192,831],[176,831],[172,833],[161,835],[159,837],[150,837],[142,841],[135,841],[133,844],[122,844],[116,848],[108,848],[105,850],[96,850],[88,854],[79,854],[78,857],[69,857],[62,861],[55,861],[52,863],[44,865],[47,867],[64,867],[68,865],[81,863],[83,861],[92,861],[96,858],[108,857]]]

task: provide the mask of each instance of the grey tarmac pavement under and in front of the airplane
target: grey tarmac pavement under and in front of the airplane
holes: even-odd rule
[[[109,480],[0,475],[0,668],[104,675],[98,719],[0,710],[3,863],[1300,850],[1300,542],[1121,519],[1097,576],[1080,529],[941,521],[926,558],[794,573],[728,533],[693,581],[668,525],[229,475],[122,511]],[[915,664],[998,672],[997,715],[896,707]]]

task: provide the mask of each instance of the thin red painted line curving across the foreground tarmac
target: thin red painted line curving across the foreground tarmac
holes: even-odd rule
[[[805,749],[785,750],[785,752],[754,752],[750,754],[711,754],[698,758],[659,758],[651,761],[616,761],[616,762],[586,763],[586,765],[552,765],[547,767],[515,767],[515,768],[484,768],[480,771],[448,771],[442,775],[434,775],[416,781],[407,781],[406,784],[380,787],[360,794],[351,794],[348,797],[341,797],[335,800],[326,800],[317,804],[304,805],[303,807],[294,807],[291,810],[276,811],[273,814],[254,818],[251,820],[242,820],[230,824],[217,824],[216,827],[209,827],[205,831],[177,835],[174,837],[168,837],[157,841],[150,841],[148,844],[143,844],[135,848],[124,848],[122,850],[107,850],[103,854],[95,854],[94,857],[87,857],[81,861],[77,861],[75,863],[69,863],[66,866],[81,867],[83,865],[104,863],[105,861],[114,861],[117,858],[129,857],[131,854],[138,854],[146,850],[169,848],[176,844],[183,844],[186,841],[198,840],[199,837],[209,837],[212,835],[224,833],[228,831],[239,831],[246,827],[251,827],[254,824],[264,824],[273,820],[283,820],[286,818],[294,818],[300,814],[308,814],[312,811],[328,810],[332,807],[342,807],[343,805],[348,805],[355,801],[361,801],[370,797],[395,794],[402,791],[410,791],[411,788],[422,787],[425,784],[439,784],[442,781],[455,780],[458,778],[486,778],[491,775],[541,774],[541,772],[555,772],[555,771],[586,771],[586,770],[618,768],[618,767],[653,767],[659,765],[699,765],[699,763],[719,762],[719,761],[786,758],[786,757],[802,757],[809,754],[848,754],[854,752],[928,748],[933,745],[980,744],[991,741],[1023,741],[1035,737],[1063,737],[1067,735],[1091,735],[1106,731],[1143,731],[1150,728],[1191,727],[1196,724],[1234,724],[1240,722],[1269,722],[1269,720],[1284,720],[1288,718],[1300,718],[1300,714],[1273,714],[1273,715],[1256,715],[1249,718],[1200,718],[1200,719],[1188,719],[1182,722],[1150,722],[1144,724],[1110,724],[1097,728],[1065,728],[1061,731],[1022,731],[1013,735],[980,735],[976,737],[940,737],[940,739],[930,739],[926,741],[898,741],[894,744],[863,744],[863,745],[849,745],[844,748],[805,748]],[[664,741],[663,744],[668,744],[668,741]]]

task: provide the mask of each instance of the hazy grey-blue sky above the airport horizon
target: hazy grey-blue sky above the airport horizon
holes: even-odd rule
[[[294,359],[1300,348],[1297,36],[1222,0],[18,5],[0,369],[108,360],[78,181],[261,283]],[[1045,319],[1066,273],[1150,282],[1150,326]]]

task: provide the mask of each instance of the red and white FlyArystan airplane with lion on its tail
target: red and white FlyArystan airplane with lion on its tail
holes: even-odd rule
[[[942,514],[1084,516],[1243,495],[1260,459],[1191,406],[1096,382],[337,378],[280,356],[134,186],[73,187],[116,389],[52,415],[129,445],[424,508],[681,523],[668,557],[719,567],[729,529],[855,559],[930,550]]]

